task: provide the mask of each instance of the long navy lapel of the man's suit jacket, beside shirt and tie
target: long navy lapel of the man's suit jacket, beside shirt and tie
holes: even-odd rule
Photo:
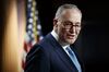
[[[66,68],[69,68],[70,70],[76,70],[76,68],[74,67],[73,62],[71,61],[71,59],[69,58],[69,56],[65,53],[65,51],[62,49],[61,45],[59,45],[59,43],[52,37],[51,34],[47,35],[47,39],[48,41],[53,46],[57,55],[59,56],[59,58],[63,61],[63,63],[66,65]]]

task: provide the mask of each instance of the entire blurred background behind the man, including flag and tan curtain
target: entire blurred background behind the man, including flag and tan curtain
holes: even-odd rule
[[[63,3],[74,3],[83,13],[83,27],[75,45],[85,71],[109,72],[109,8],[106,0],[1,0],[0,72],[23,71],[26,52],[52,31],[55,13]],[[37,29],[32,32],[32,28]],[[29,34],[35,36],[32,38]],[[28,45],[28,40],[32,44]]]

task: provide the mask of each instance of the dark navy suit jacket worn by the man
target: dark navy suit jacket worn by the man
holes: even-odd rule
[[[28,52],[25,72],[77,72],[77,70],[59,43],[48,34]]]

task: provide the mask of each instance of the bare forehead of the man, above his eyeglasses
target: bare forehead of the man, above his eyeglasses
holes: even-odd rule
[[[82,14],[75,9],[65,9],[61,13],[63,21],[81,22]]]

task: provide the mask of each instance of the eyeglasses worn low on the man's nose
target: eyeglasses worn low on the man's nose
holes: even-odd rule
[[[69,21],[62,22],[62,23],[63,23],[63,26],[65,29],[70,29],[71,27],[76,27],[76,28],[81,27],[80,22],[76,22],[75,24],[73,24],[72,22],[69,22]]]

